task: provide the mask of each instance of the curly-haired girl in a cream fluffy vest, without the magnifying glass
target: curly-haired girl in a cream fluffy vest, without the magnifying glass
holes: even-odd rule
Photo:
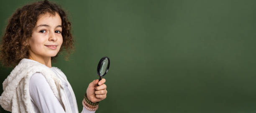
[[[78,113],[67,77],[51,66],[63,49],[68,54],[74,49],[73,37],[58,5],[44,0],[18,8],[8,20],[0,49],[3,65],[15,66],[3,82],[0,105],[13,113]],[[94,113],[106,98],[104,83],[89,84],[82,113]]]

